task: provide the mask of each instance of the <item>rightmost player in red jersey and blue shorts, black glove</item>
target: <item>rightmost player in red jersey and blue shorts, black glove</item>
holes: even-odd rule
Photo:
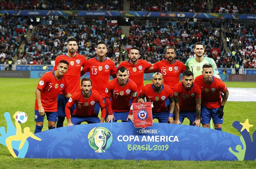
[[[215,130],[222,131],[224,105],[228,100],[228,88],[220,79],[213,76],[211,64],[203,65],[202,75],[195,78],[195,83],[202,90],[201,123],[209,128],[212,117]],[[224,93],[221,101],[220,92]]]

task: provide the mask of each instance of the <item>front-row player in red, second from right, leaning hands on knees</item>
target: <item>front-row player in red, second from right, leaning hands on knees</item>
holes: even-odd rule
[[[201,89],[193,83],[192,71],[184,71],[182,82],[175,85],[173,89],[175,101],[175,124],[183,123],[187,117],[195,126],[200,126],[201,112]]]

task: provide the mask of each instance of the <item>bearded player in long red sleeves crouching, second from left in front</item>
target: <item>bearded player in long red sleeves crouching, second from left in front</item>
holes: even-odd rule
[[[85,77],[81,80],[82,89],[72,95],[66,104],[65,112],[67,117],[67,125],[78,125],[82,122],[87,123],[104,123],[106,117],[105,101],[100,93],[92,90],[92,80]],[[94,111],[95,104],[99,103],[101,108],[101,119]],[[70,108],[76,104],[76,109],[70,116]]]

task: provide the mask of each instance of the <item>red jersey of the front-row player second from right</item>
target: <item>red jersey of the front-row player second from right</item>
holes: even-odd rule
[[[183,82],[179,82],[173,89],[173,95],[175,98],[180,98],[180,111],[191,111],[195,112],[195,99],[201,98],[200,87],[193,83],[189,91],[186,91]]]

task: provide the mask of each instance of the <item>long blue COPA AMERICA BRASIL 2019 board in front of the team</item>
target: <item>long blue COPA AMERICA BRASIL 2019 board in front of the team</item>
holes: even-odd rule
[[[189,125],[153,123],[146,129],[133,123],[73,125],[32,134],[4,114],[0,143],[18,158],[83,158],[136,160],[255,160],[256,134],[250,139],[248,119],[235,121],[241,136]],[[15,154],[14,154],[15,153]]]

